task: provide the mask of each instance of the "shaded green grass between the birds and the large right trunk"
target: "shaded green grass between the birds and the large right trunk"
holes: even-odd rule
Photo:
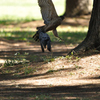
[[[50,34],[50,37],[51,40],[55,42],[64,42],[66,44],[79,44],[86,37],[86,34],[86,32],[59,32],[59,36],[63,39],[63,41],[55,38],[52,33]]]

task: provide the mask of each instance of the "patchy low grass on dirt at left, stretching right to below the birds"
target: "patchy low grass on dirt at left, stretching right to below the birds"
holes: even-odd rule
[[[27,60],[29,58],[29,60]],[[54,57],[44,55],[30,55],[28,52],[16,52],[13,56],[5,57],[5,63],[1,66],[2,74],[14,73],[12,77],[22,77],[38,71],[40,66],[31,66],[31,63],[48,63],[54,61]]]

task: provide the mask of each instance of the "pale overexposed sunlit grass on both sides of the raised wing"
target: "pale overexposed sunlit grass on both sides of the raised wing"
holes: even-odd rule
[[[64,12],[65,0],[53,0],[57,13]],[[36,20],[41,19],[40,8],[37,0],[1,0],[0,21],[6,20]]]

